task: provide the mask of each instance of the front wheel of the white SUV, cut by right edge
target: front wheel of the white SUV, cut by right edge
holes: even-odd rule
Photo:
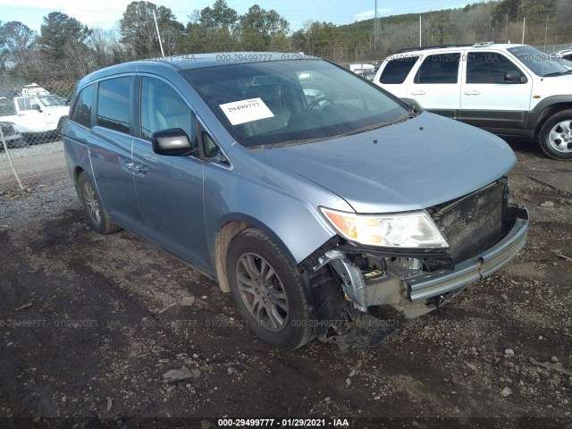
[[[563,110],[548,118],[540,129],[538,143],[552,159],[571,159],[572,110]]]

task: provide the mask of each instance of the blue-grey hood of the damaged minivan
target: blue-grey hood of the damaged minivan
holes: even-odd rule
[[[441,204],[486,186],[517,164],[502,139],[430,113],[353,136],[251,154],[329,189],[357,213]]]

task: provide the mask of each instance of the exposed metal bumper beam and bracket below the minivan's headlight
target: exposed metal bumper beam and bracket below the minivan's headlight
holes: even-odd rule
[[[365,273],[342,248],[319,257],[318,271],[330,265],[341,281],[346,299],[360,312],[367,307],[390,305],[408,318],[424,315],[466,288],[506,265],[526,244],[528,211],[514,207],[515,223],[504,237],[476,257],[454,265],[452,269],[423,270],[415,256],[381,257],[374,275]],[[364,254],[363,257],[374,257]]]

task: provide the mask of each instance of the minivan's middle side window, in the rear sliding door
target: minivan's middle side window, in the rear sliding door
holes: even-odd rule
[[[97,125],[129,133],[130,84],[130,77],[99,83]]]

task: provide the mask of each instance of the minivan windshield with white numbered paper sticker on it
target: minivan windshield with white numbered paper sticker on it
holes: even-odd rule
[[[407,119],[396,99],[323,60],[182,71],[244,147],[332,139]]]

